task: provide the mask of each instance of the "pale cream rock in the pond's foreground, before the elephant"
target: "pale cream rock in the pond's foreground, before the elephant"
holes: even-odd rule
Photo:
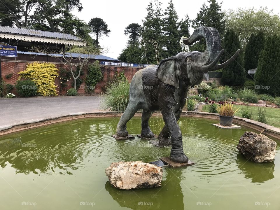
[[[141,161],[113,162],[105,170],[111,185],[119,189],[160,187],[162,168]]]

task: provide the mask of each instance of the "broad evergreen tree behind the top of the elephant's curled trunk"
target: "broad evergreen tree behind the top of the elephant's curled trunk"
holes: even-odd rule
[[[225,33],[225,13],[221,9],[222,3],[218,4],[216,0],[208,0],[209,6],[202,5],[195,20],[192,20],[192,28],[207,26],[216,28],[223,40]],[[193,51],[203,52],[205,50],[205,40],[201,39],[190,47]]]

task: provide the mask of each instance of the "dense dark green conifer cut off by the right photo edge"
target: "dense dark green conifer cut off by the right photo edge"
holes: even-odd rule
[[[255,86],[262,93],[280,95],[280,35],[268,36],[260,53]]]

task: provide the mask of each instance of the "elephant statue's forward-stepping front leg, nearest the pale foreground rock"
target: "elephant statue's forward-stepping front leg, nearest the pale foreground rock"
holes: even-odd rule
[[[182,141],[182,133],[180,127],[177,123],[176,116],[174,114],[173,109],[163,108],[161,109],[161,113],[163,115],[163,119],[165,124],[168,127],[170,136],[171,136],[171,152],[170,159],[174,162],[184,163],[188,162],[189,159],[185,155],[183,151],[183,141]]]

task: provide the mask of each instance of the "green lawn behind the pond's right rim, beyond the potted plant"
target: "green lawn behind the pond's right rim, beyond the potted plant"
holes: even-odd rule
[[[248,107],[249,110],[251,110],[251,108],[253,108],[251,120],[256,120],[256,118],[258,116],[258,107],[257,106],[242,106],[242,105],[235,105],[235,106],[237,106],[239,108],[239,112],[235,114],[236,116],[239,116],[239,117],[242,117],[241,116],[242,108],[246,109]],[[209,108],[209,106],[207,107],[207,109],[208,108]],[[201,111],[205,111],[205,105],[202,107]],[[280,109],[279,108],[266,107],[266,117],[269,118],[268,125],[272,125],[272,126],[280,128]]]

